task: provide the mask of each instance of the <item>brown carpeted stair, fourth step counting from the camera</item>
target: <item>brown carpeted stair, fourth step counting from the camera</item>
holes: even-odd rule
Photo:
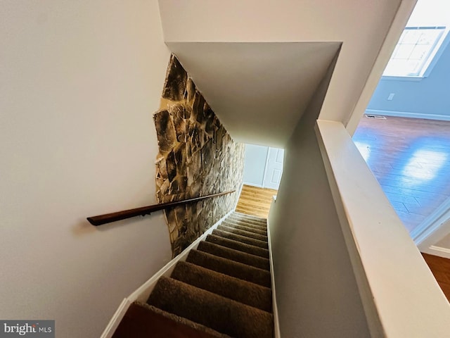
[[[271,287],[269,271],[214,256],[211,253],[192,249],[188,253],[186,262],[216,271],[217,273],[236,277],[240,280],[262,285],[263,287]]]

